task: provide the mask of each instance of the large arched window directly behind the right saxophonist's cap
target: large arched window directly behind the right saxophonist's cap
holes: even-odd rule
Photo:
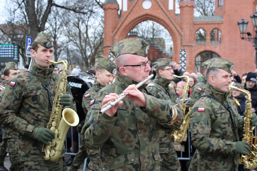
[[[207,61],[208,59],[211,59],[211,58],[220,58],[220,57],[219,57],[219,55],[217,55],[211,51],[204,51],[204,52],[198,54],[195,58],[195,73],[197,73],[197,72],[202,73],[201,64],[204,61]]]

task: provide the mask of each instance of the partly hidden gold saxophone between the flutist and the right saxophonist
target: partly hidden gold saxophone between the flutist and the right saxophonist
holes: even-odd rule
[[[183,95],[184,94],[187,94],[189,92],[189,76],[186,76],[186,75],[183,75],[183,76],[176,76],[176,75],[173,75],[173,77],[176,77],[176,78],[186,78],[186,84],[184,86],[184,89],[183,89]],[[186,112],[186,105],[184,106],[181,106],[182,109],[184,110],[184,113]],[[185,139],[185,136],[186,136],[186,133],[187,133],[187,129],[188,129],[188,126],[189,126],[189,123],[190,123],[190,110],[191,110],[192,107],[189,108],[189,111],[188,113],[185,115],[185,119],[184,121],[182,122],[182,124],[179,126],[179,129],[178,130],[174,130],[172,131],[171,133],[171,137],[173,137],[173,140],[176,141],[176,142],[182,142],[184,139]]]

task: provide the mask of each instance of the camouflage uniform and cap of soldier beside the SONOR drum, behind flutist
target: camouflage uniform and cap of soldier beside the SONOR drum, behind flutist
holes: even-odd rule
[[[95,65],[100,65],[101,67],[103,67],[109,73],[112,73],[112,74],[116,71],[116,66],[113,63],[113,61],[111,61],[109,58],[104,56],[98,56],[96,59]],[[95,82],[92,88],[90,88],[84,93],[84,96],[82,99],[82,107],[85,114],[87,114],[90,102],[94,99],[97,92],[103,87],[105,87],[105,85],[100,84],[100,82],[98,82],[97,79],[95,79]],[[69,170],[77,171],[87,156],[90,159],[88,167],[92,170],[99,170],[99,159],[97,158],[99,157],[99,149],[90,150],[88,148],[85,148],[83,143],[81,144],[81,147],[79,148],[79,151],[76,154]]]

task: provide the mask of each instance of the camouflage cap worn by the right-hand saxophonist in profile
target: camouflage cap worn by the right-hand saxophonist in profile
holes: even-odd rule
[[[228,73],[230,73],[233,66],[234,66],[233,62],[231,62],[228,59],[211,58],[210,60],[208,60],[207,69],[209,69],[211,67],[217,67],[217,68],[220,68],[220,69],[225,70]]]

